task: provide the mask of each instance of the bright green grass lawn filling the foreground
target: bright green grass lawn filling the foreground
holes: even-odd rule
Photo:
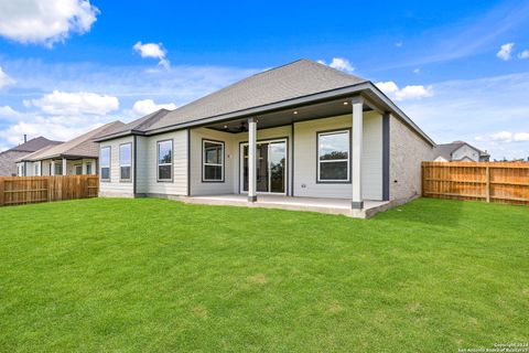
[[[529,341],[529,207],[368,221],[95,199],[0,210],[0,351],[456,352]]]

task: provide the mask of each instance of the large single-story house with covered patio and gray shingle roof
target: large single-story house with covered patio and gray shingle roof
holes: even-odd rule
[[[420,194],[434,142],[367,79],[300,60],[96,139],[100,196],[366,216]],[[333,211],[333,213],[334,213]]]

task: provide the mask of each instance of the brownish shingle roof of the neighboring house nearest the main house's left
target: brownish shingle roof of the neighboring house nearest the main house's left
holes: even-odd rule
[[[123,126],[125,124],[121,121],[109,122],[58,146],[43,148],[25,156],[19,161],[40,161],[63,157],[97,158],[99,156],[99,147],[97,142],[94,142],[94,139],[107,133],[112,133]]]

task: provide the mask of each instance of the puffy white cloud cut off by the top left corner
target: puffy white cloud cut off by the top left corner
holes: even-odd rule
[[[0,35],[52,46],[88,32],[98,13],[89,0],[0,0]]]

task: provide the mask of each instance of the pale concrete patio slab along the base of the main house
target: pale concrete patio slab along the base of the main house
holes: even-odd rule
[[[364,207],[352,208],[350,199],[331,197],[296,197],[273,194],[259,194],[253,202],[248,202],[246,194],[188,196],[183,200],[191,204],[250,206],[264,208],[281,208],[291,211],[310,211],[328,214],[341,214],[356,218],[369,218],[378,212],[390,207],[389,201],[364,201]]]

